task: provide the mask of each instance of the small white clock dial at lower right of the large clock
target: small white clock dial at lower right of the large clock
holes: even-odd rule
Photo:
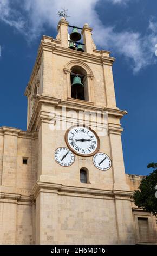
[[[108,170],[110,167],[112,167],[112,161],[110,157],[100,152],[93,156],[93,163],[99,170]]]

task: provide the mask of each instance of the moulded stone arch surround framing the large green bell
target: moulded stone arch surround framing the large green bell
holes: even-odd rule
[[[73,74],[78,74],[81,77],[81,82],[84,84],[84,100],[94,102],[93,94],[93,77],[94,74],[90,67],[81,60],[71,60],[64,67],[64,73],[67,75],[67,97],[71,98],[71,78]]]

